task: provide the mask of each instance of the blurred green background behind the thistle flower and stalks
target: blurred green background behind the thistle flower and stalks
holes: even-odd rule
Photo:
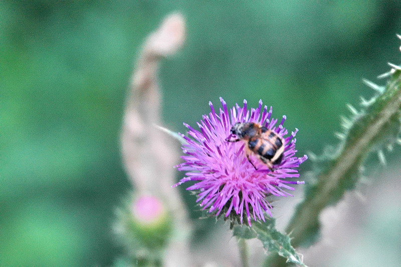
[[[345,104],[373,95],[362,78],[377,81],[387,62],[401,63],[396,0],[1,1],[1,266],[107,266],[122,253],[111,225],[130,190],[119,148],[124,98],[141,43],[173,11],[186,18],[187,41],[163,61],[160,83],[175,131],[220,96],[229,105],[262,99],[300,129],[300,155],[320,154],[337,143]],[[388,186],[399,183],[400,147],[386,156],[386,167],[369,158],[367,203],[347,215],[363,213],[364,223],[343,218],[336,228],[353,221],[353,250],[326,266],[375,262],[355,255],[401,261],[401,209]],[[184,197],[192,208],[194,197]],[[199,242],[214,225],[201,215],[191,213]]]

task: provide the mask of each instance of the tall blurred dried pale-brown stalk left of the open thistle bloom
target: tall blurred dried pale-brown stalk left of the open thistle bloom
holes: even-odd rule
[[[138,194],[163,199],[173,214],[175,234],[166,252],[165,266],[190,266],[190,224],[175,183],[179,154],[177,144],[155,125],[161,125],[160,87],[157,82],[161,59],[182,47],[185,26],[180,14],[167,16],[146,39],[133,72],[121,136],[124,166]]]

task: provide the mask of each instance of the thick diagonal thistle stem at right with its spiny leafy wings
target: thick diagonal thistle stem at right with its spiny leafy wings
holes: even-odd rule
[[[367,103],[363,102],[361,111],[350,108],[353,117],[344,119],[343,141],[334,153],[320,157],[320,166],[310,174],[314,179],[287,227],[287,231],[292,231],[294,246],[310,246],[317,240],[322,210],[336,204],[347,190],[355,188],[369,153],[381,152],[383,147],[392,146],[398,140],[401,133],[401,70],[393,67],[386,86]],[[280,261],[278,257],[276,259]]]

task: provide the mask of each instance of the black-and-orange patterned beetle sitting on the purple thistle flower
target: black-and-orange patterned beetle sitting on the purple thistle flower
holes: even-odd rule
[[[232,136],[237,139],[232,140]],[[245,141],[247,144],[247,159],[257,170],[250,159],[250,155],[255,154],[270,170],[274,165],[280,164],[283,160],[284,140],[276,132],[255,122],[237,122],[231,128],[231,135],[226,139],[227,142]]]

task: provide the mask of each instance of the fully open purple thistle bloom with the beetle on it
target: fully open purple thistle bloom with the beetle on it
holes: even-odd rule
[[[173,187],[188,181],[196,183],[186,190],[197,193],[196,202],[203,210],[216,216],[229,217],[233,222],[251,225],[254,221],[265,221],[265,212],[272,216],[272,206],[266,200],[269,195],[292,196],[283,189],[294,190],[288,184],[301,184],[303,182],[288,181],[286,178],[299,177],[297,168],[303,163],[307,156],[295,157],[294,138],[298,129],[289,137],[283,127],[286,116],[283,116],[280,124],[276,127],[277,119],[271,117],[272,107],[262,109],[262,100],[259,107],[251,110],[236,104],[230,111],[226,102],[220,98],[223,109],[216,112],[212,102],[209,102],[211,112],[204,115],[203,120],[198,122],[199,130],[195,130],[188,124],[190,139],[180,134],[187,142],[182,146],[186,154],[181,158],[183,163],[177,165],[179,171],[185,171],[186,177],[182,178]],[[232,137],[231,127],[237,122],[255,122],[266,126],[283,138],[285,146],[281,163],[275,165],[271,170],[256,155],[251,155],[251,161],[246,157],[246,141],[237,143],[227,142]]]

